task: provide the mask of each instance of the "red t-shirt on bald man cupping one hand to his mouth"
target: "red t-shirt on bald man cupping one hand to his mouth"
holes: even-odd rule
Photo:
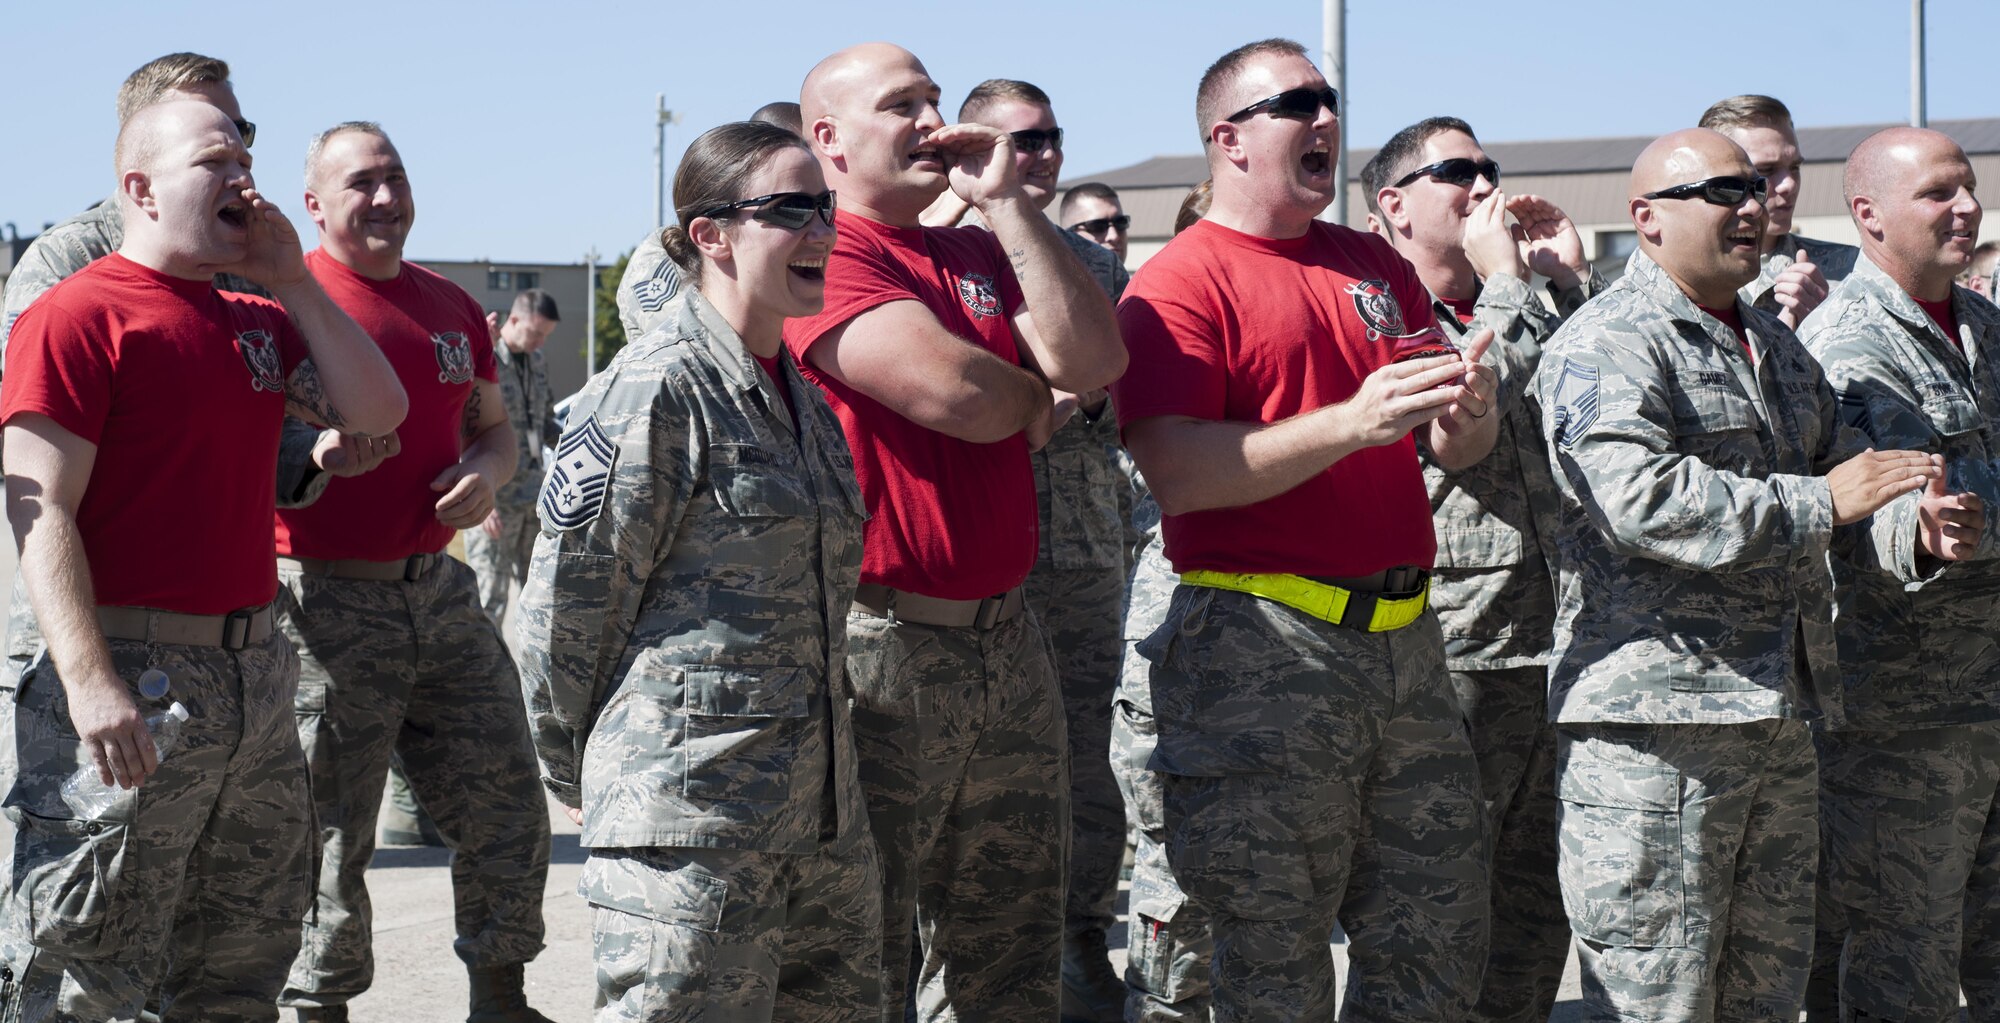
[[[826,310],[786,320],[784,344],[826,392],[854,452],[868,502],[862,581],[946,599],[1004,593],[1028,577],[1040,545],[1028,438],[972,444],[926,430],[820,374],[808,352],[876,306],[914,300],[944,330],[1020,364],[1012,328],[1020,284],[984,230],[892,228],[848,212],[834,222]]]

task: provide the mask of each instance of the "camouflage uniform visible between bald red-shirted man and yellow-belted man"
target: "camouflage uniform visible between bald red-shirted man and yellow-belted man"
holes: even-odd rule
[[[1062,232],[1062,240],[1116,304],[1132,280],[1118,256],[1074,232]],[[1124,651],[1120,627],[1130,569],[1126,523],[1132,488],[1118,468],[1118,416],[1110,402],[1096,416],[1078,410],[1032,460],[1042,547],[1028,573],[1026,595],[1056,653],[1070,733],[1070,887],[1062,933],[1072,951],[1064,967],[1078,957],[1102,963],[1098,977],[1064,977],[1064,1013],[1088,1019],[1094,1013],[1086,1013],[1086,1005],[1096,1001],[1090,995],[1106,995],[1094,991],[1090,981],[1116,983],[1104,933],[1114,921],[1126,835],[1108,755],[1112,689]],[[1114,1005],[1124,1001],[1122,991],[1110,997]],[[1110,1011],[1116,1013],[1116,1007]]]

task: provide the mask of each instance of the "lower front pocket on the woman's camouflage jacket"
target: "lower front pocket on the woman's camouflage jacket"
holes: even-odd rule
[[[808,689],[804,667],[688,667],[682,793],[708,801],[786,801],[806,729]],[[656,741],[652,735],[636,739]]]

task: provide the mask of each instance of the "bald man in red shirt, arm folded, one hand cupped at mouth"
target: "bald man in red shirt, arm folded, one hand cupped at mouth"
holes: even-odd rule
[[[1012,140],[946,128],[908,50],[822,60],[800,106],[840,242],[826,310],[784,340],[846,428],[870,515],[848,675],[882,849],[884,1019],[904,1013],[912,921],[922,1017],[1052,1019],[1068,771],[1048,641],[1022,613],[1028,448],[1054,428],[1050,388],[1110,384],[1124,348]],[[944,188],[990,232],[920,228]]]

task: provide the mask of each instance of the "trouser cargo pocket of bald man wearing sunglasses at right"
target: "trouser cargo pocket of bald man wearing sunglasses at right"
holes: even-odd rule
[[[1686,945],[1680,773],[1572,757],[1556,795],[1570,929],[1614,947]]]

